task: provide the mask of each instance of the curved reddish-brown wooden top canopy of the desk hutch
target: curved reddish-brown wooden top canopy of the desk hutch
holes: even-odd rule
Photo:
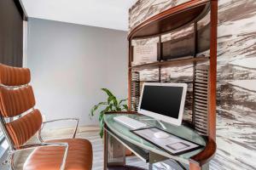
[[[128,39],[154,37],[200,20],[210,8],[209,0],[191,0],[154,15],[135,27]]]

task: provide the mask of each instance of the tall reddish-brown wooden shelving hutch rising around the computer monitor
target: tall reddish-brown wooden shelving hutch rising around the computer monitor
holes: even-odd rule
[[[208,37],[204,40],[198,36],[197,22],[203,19],[208,14],[210,18],[210,24],[207,27]],[[207,162],[212,159],[216,151],[216,77],[217,77],[217,23],[218,23],[218,0],[190,0],[187,3],[182,3],[173,8],[169,8],[166,11],[156,14],[148,20],[143,21],[140,25],[131,30],[129,40],[129,72],[128,72],[128,105],[129,111],[132,111],[132,93],[134,92],[134,86],[132,83],[132,72],[143,71],[145,69],[159,69],[159,82],[161,82],[161,69],[168,67],[179,67],[184,65],[193,65],[193,118],[192,127],[195,127],[199,133],[207,138],[207,145],[201,153],[193,156],[189,160],[189,169],[201,170],[207,166]],[[162,59],[142,64],[132,65],[133,60],[133,48],[132,41],[161,37],[166,33],[172,33],[177,29],[183,29],[183,26],[194,26],[195,43],[192,46],[193,56],[189,58],[177,59]],[[208,39],[209,44],[203,46],[208,48],[209,56],[198,56],[199,45]],[[178,40],[177,40],[178,41]],[[199,43],[201,42],[201,43]],[[160,38],[160,50],[162,50],[163,43]],[[166,45],[166,44],[165,44]],[[172,45],[168,43],[167,46]],[[191,45],[191,44],[190,44]],[[201,46],[202,47],[202,46]],[[170,50],[172,48],[169,48]],[[162,53],[160,53],[162,55]],[[190,55],[190,54],[189,54]],[[172,57],[171,57],[172,58]],[[199,65],[207,63],[207,65]],[[138,76],[139,77],[139,76]],[[134,99],[132,100],[134,101]],[[199,108],[203,107],[204,110]]]

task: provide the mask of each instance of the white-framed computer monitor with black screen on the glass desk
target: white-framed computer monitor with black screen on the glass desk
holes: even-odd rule
[[[187,87],[186,83],[144,83],[138,113],[181,125]]]

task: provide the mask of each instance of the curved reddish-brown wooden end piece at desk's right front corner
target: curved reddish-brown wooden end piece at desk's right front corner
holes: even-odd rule
[[[189,162],[202,166],[208,161],[211,161],[212,157],[215,156],[217,145],[214,140],[208,139],[207,145],[204,150],[195,156],[190,157]]]

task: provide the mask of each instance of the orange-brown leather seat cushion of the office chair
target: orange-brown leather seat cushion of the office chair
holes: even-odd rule
[[[86,139],[58,139],[46,143],[68,143],[65,170],[90,170],[92,147]],[[27,158],[24,170],[59,170],[65,147],[51,146],[34,150]]]

